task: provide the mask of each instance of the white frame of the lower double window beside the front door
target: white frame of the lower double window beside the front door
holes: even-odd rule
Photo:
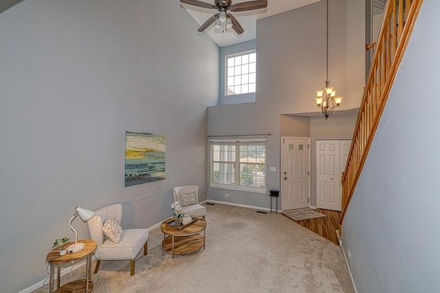
[[[214,161],[214,146],[217,145],[234,145],[234,161],[228,161],[228,159]],[[243,162],[241,161],[240,147],[243,145],[263,145],[264,148],[264,163],[258,163],[258,162]],[[223,188],[223,189],[234,189],[239,191],[252,191],[256,193],[266,193],[267,192],[267,139],[210,139],[209,141],[209,150],[210,150],[210,187],[216,187],[216,188]],[[214,183],[214,164],[217,163],[223,163],[228,164],[231,163],[232,169],[234,170],[234,183],[233,184],[227,184],[227,183]],[[262,165],[263,171],[260,171],[263,173],[263,181],[264,181],[264,187],[252,187],[252,186],[246,186],[241,185],[240,182],[240,175],[241,175],[241,166],[242,165]],[[256,177],[262,177],[261,175],[255,175]]]

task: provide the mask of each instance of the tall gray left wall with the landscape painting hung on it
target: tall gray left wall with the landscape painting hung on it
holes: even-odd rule
[[[0,14],[1,292],[47,276],[76,205],[122,202],[122,226],[148,228],[171,215],[175,186],[206,200],[219,48],[197,27],[175,0],[23,1]],[[126,131],[166,136],[165,180],[124,187]]]

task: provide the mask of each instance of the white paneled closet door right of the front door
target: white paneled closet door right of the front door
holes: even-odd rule
[[[341,211],[341,175],[350,140],[316,141],[316,207]]]

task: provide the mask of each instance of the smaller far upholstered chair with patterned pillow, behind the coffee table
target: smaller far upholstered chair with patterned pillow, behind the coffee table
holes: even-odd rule
[[[206,207],[199,204],[199,187],[197,185],[174,187],[173,197],[175,202],[180,203],[182,213],[205,218]]]

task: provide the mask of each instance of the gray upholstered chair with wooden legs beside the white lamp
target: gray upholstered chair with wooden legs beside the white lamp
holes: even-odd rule
[[[133,276],[136,256],[142,247],[144,247],[144,255],[148,251],[148,230],[142,228],[122,229],[119,226],[122,233],[119,230],[120,241],[115,243],[102,232],[102,226],[107,219],[114,219],[120,224],[122,222],[122,204],[111,204],[96,210],[94,217],[87,222],[91,239],[98,243],[98,248],[95,251],[97,261],[94,274],[98,272],[102,260],[130,260],[130,275]]]

